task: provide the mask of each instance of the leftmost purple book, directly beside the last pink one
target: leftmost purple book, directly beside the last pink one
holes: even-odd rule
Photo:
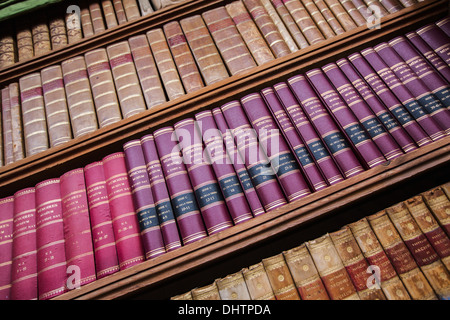
[[[123,151],[145,258],[148,260],[160,256],[166,250],[153,201],[141,141],[139,139],[128,141],[123,145]]]

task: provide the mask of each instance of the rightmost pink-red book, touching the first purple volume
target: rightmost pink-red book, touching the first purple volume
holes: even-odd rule
[[[120,270],[145,260],[133,197],[125,163],[125,154],[116,152],[103,158],[114,238]]]

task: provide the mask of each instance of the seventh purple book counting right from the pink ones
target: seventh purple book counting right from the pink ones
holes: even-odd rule
[[[221,110],[265,211],[285,205],[287,201],[277,176],[272,170],[240,102],[230,101],[224,104]]]

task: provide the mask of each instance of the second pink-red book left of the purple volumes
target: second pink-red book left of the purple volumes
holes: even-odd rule
[[[101,279],[119,271],[103,163],[96,161],[85,166],[84,178],[91,221],[95,270],[97,279]]]

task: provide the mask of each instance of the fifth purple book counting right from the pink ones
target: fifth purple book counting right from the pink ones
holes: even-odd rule
[[[207,161],[211,163],[222,190],[226,206],[234,224],[247,221],[253,217],[252,211],[245,199],[244,190],[236,174],[231,159],[226,153],[222,134],[217,129],[210,110],[195,115],[199,130],[205,144]]]

